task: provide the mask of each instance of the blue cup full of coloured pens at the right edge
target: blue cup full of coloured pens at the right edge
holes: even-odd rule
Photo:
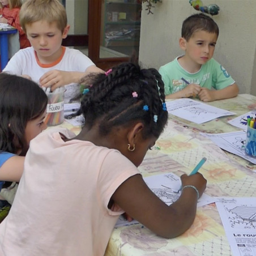
[[[256,118],[247,117],[245,153],[256,157]]]

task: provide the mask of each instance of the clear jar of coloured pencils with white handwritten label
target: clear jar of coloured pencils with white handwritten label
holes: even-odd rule
[[[64,87],[59,87],[53,92],[48,87],[45,91],[48,96],[45,123],[48,126],[59,125],[64,121]]]

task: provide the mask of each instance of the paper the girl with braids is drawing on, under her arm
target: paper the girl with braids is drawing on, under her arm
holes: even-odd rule
[[[168,206],[177,201],[181,195],[181,191],[177,193],[181,187],[181,179],[174,173],[162,173],[159,175],[153,175],[143,178],[148,187],[153,191],[157,197],[159,197]],[[206,204],[214,203],[215,198],[210,197],[207,194],[203,194],[202,197],[198,199],[197,206],[204,206]],[[121,227],[123,225],[133,225],[137,224],[138,221],[127,221],[123,216],[120,216],[116,227]]]

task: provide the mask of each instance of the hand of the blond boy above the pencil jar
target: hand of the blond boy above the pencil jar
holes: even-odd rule
[[[66,84],[75,83],[72,72],[61,70],[50,70],[41,76],[39,80],[42,87],[51,87],[52,91]]]

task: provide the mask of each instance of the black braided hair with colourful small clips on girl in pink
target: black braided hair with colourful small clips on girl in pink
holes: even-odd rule
[[[84,78],[91,85],[84,89],[81,108],[88,129],[99,122],[106,135],[114,126],[135,121],[144,123],[143,136],[159,137],[168,119],[164,83],[156,69],[140,69],[123,63],[104,73]]]

